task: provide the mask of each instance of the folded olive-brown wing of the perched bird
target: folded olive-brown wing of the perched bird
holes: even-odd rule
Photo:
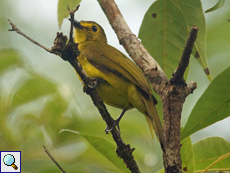
[[[146,93],[150,93],[149,83],[141,70],[119,50],[106,43],[87,44],[82,47],[80,50],[82,55],[97,69],[104,73],[106,71],[116,73]]]

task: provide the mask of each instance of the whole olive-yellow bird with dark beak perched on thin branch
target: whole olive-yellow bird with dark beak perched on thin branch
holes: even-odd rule
[[[155,131],[163,149],[162,125],[155,107],[157,100],[143,72],[122,52],[107,43],[105,31],[98,23],[74,20],[73,25],[74,42],[80,51],[77,59],[83,70],[96,81],[95,89],[103,102],[122,109],[114,127],[120,130],[119,122],[125,112],[136,108],[145,115],[152,137]],[[112,128],[107,127],[106,130]]]

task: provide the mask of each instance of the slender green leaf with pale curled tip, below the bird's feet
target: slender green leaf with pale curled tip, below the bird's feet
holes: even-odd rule
[[[116,167],[118,167],[123,172],[127,172],[127,173],[130,172],[128,168],[125,167],[122,160],[119,159],[118,156],[115,154],[116,147],[111,142],[101,137],[84,135],[79,132],[75,132],[71,130],[62,130],[61,132],[63,131],[70,131],[70,132],[81,135],[83,138],[85,138],[90,143],[90,145],[93,148],[95,148],[104,157],[106,157],[109,161],[111,161]]]

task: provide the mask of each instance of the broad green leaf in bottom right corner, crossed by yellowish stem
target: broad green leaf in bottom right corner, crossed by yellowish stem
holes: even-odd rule
[[[210,137],[193,144],[195,171],[201,172],[221,156],[229,153],[230,143],[220,137]],[[219,161],[212,169],[230,170],[230,157]],[[210,171],[211,171],[210,170]]]

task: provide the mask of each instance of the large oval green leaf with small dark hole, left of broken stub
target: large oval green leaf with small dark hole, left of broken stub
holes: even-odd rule
[[[173,0],[155,1],[146,12],[139,38],[171,78],[188,38],[186,21]]]

